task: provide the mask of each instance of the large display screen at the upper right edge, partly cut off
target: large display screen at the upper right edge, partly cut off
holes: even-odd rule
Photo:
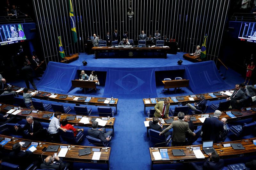
[[[242,22],[238,38],[256,43],[256,22]]]

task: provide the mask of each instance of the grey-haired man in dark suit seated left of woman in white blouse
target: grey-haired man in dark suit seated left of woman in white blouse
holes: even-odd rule
[[[34,120],[32,116],[26,117],[27,123],[23,128],[18,128],[17,126],[14,126],[16,130],[19,130],[19,132],[23,132],[24,130],[28,130],[29,138],[34,140],[40,140],[42,138],[42,132],[43,127],[40,122],[37,120]]]

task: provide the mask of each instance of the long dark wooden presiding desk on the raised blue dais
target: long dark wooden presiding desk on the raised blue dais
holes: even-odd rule
[[[96,52],[96,59],[107,57],[166,58],[170,47],[92,47],[92,50]]]

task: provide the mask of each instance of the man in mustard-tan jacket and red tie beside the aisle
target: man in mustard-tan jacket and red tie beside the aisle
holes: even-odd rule
[[[169,119],[169,108],[170,108],[170,99],[166,98],[164,101],[159,101],[156,103],[154,113],[155,117],[159,118],[168,118]]]

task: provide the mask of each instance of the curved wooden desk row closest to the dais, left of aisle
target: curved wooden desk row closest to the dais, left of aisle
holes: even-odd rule
[[[18,87],[18,86],[12,86],[12,88],[14,87]],[[18,87],[19,89],[21,87]],[[19,89],[12,89],[13,91],[18,91]],[[35,92],[35,90],[32,90],[32,89],[29,89],[30,91],[33,91]],[[44,93],[50,93],[50,92],[40,92],[42,94],[40,95],[36,95],[34,96],[33,98],[35,99],[40,99],[40,100],[49,100],[49,101],[56,101],[56,102],[62,102],[62,103],[73,103],[73,104],[76,104],[76,105],[93,105],[93,106],[108,106],[108,107],[116,107],[116,114],[117,114],[117,102],[118,102],[118,99],[117,98],[114,98],[113,100],[115,100],[115,102],[113,104],[105,104],[104,103],[104,100],[103,101],[98,101],[98,99],[106,99],[106,98],[99,98],[99,97],[92,97],[92,99],[89,101],[89,102],[85,102],[84,100],[74,100],[75,97],[85,97],[86,99],[86,96],[73,96],[73,97],[68,97],[68,95],[66,94],[55,94],[57,95],[57,97],[55,98],[50,98],[50,97],[44,97],[42,96]],[[18,92],[18,94],[20,95],[23,95],[23,90]],[[66,99],[60,99],[60,96],[67,96]]]

